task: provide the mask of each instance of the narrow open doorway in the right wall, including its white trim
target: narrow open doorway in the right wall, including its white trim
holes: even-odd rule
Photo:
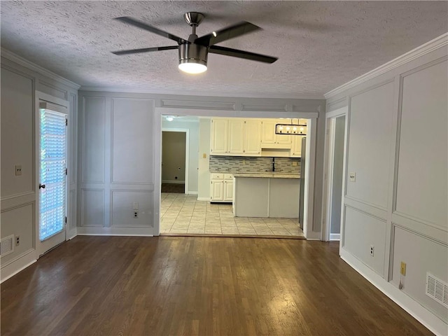
[[[325,139],[325,181],[323,240],[340,240],[344,204],[344,162],[346,148],[346,107],[327,114]]]

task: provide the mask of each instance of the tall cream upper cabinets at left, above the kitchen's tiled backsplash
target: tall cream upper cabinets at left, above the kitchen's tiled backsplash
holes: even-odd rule
[[[260,156],[260,120],[211,120],[210,155]]]

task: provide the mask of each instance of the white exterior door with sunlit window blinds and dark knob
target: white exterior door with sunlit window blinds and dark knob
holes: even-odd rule
[[[67,115],[48,106],[40,104],[38,118],[39,255],[66,239]]]

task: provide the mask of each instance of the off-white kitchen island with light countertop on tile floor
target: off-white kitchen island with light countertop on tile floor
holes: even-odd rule
[[[281,172],[234,173],[237,217],[298,218],[300,176]]]

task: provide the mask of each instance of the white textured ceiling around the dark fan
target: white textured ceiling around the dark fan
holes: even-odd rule
[[[1,1],[1,46],[83,87],[261,97],[323,96],[448,31],[447,1]],[[210,54],[206,73],[177,68],[176,45],[112,20],[132,16],[188,38],[246,20],[262,27],[220,45],[279,57],[264,64]]]

